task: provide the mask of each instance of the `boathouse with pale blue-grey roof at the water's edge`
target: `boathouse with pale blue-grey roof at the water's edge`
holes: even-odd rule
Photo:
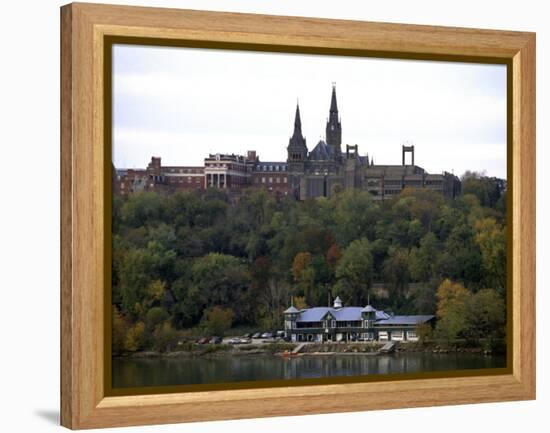
[[[365,307],[344,307],[339,297],[329,307],[284,312],[285,336],[293,342],[418,341],[418,327],[432,326],[435,316],[394,316]]]

